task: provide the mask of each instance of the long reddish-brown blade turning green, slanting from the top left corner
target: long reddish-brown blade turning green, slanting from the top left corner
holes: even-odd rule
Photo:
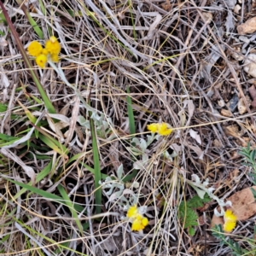
[[[15,38],[15,43],[17,44],[18,49],[20,50],[20,54],[22,55],[22,58],[25,62],[26,67],[28,68],[28,71],[31,73],[32,79],[34,81],[34,83],[37,85],[38,91],[40,93],[40,95],[43,98],[45,107],[47,108],[47,110],[49,111],[49,113],[56,113],[55,112],[55,108],[52,105],[52,103],[49,101],[49,97],[47,96],[47,94],[44,91],[44,87],[42,86],[42,84],[40,83],[40,80],[38,78],[38,74],[34,72],[34,70],[32,69],[32,63],[28,58],[28,55],[26,54],[26,50],[23,47],[23,44],[20,41],[20,37],[18,35],[18,33],[15,30],[15,26],[13,25],[12,21],[9,18],[9,15],[6,11],[6,9],[4,8],[3,3],[0,1],[0,7],[3,11],[3,15],[9,25],[9,29],[12,32],[14,38]]]

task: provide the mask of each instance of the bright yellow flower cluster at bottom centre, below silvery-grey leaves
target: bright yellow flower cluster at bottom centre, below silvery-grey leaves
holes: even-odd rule
[[[137,210],[137,206],[130,207],[127,217],[131,220],[131,231],[139,231],[145,229],[148,225],[148,218],[143,217]]]

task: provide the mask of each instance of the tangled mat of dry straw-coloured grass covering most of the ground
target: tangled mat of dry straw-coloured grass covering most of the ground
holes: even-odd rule
[[[7,2],[5,7],[27,47],[38,37],[19,5]],[[44,32],[44,39],[49,38],[50,29],[59,38],[58,65],[73,87],[67,86],[51,67],[38,70],[35,66],[59,116],[47,113],[14,38],[3,23],[0,132],[11,137],[26,136],[27,129],[32,128],[25,111],[29,110],[41,120],[41,137],[34,131],[25,143],[1,151],[1,255],[229,255],[230,248],[222,246],[210,230],[216,202],[198,212],[204,221],[196,227],[195,236],[189,236],[177,213],[179,203],[195,195],[186,182],[192,174],[201,180],[209,178],[219,198],[251,184],[249,169],[241,164],[237,152],[248,142],[255,143],[253,113],[232,113],[227,118],[217,112],[218,93],[224,100],[230,100],[234,90],[243,97],[247,93],[246,79],[235,71],[229,72],[230,51],[224,48],[231,40],[229,36],[219,38],[214,21],[209,25],[203,18],[210,3],[42,3],[46,15],[38,1],[30,3],[28,9],[34,8],[31,14]],[[216,16],[219,9],[211,7],[210,11]],[[227,12],[226,7],[223,12]],[[216,49],[221,57],[212,63]],[[128,115],[127,95],[131,96],[134,119]],[[99,129],[97,150],[92,144],[90,125],[78,121],[79,116],[90,120],[81,96],[106,125],[97,127],[94,119]],[[132,137],[147,140],[147,125],[159,121],[171,124],[175,131],[154,140],[144,152],[148,160],[139,170],[133,169],[142,154],[132,149]],[[230,125],[237,132],[229,131]],[[189,129],[198,132],[201,143],[191,137]],[[60,154],[51,148],[43,135],[65,145],[68,153]],[[11,137],[1,137],[1,146],[10,143]],[[166,151],[172,154],[173,149],[177,156],[172,160],[163,156]],[[137,150],[142,148],[137,146]],[[111,201],[104,192],[102,212],[96,215],[96,151],[104,177],[117,177],[123,165],[123,175],[128,176],[126,199],[131,203],[131,195],[136,194],[137,204],[148,206],[149,224],[142,233],[131,231],[131,224],[123,219],[120,201]],[[32,188],[57,195],[65,203],[57,198],[49,201],[48,194],[38,195],[36,190],[22,188],[20,183],[27,184],[31,178],[19,160],[36,174],[45,173],[31,183]],[[20,183],[11,183],[7,178]],[[136,182],[138,188],[132,188]],[[235,235],[252,238],[253,220],[239,223]]]

